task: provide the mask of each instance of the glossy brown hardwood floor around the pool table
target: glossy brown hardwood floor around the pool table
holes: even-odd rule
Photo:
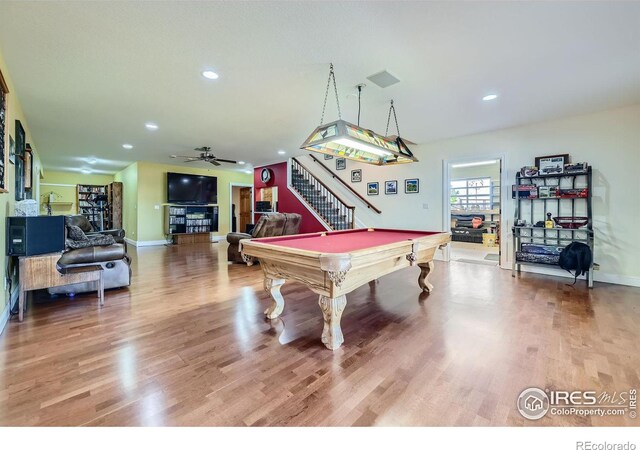
[[[49,301],[0,336],[0,425],[638,425],[523,419],[520,391],[640,387],[640,289],[436,262],[347,295],[344,345],[317,295],[282,288],[226,244],[131,249],[130,289]]]

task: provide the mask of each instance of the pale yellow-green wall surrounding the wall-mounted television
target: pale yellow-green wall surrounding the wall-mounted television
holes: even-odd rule
[[[218,232],[224,236],[230,229],[230,183],[253,184],[253,174],[169,164],[137,162],[115,175],[124,186],[124,223],[127,236],[135,241],[160,241],[164,233],[164,205],[167,203],[167,172],[206,175],[218,178]],[[133,187],[134,186],[134,187]],[[133,188],[132,188],[133,187]],[[136,195],[127,194],[136,192]],[[134,219],[135,217],[135,219]]]

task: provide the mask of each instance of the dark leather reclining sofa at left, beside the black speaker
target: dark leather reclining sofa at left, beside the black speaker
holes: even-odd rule
[[[100,235],[108,235],[113,238],[111,242],[115,241],[115,243],[110,245],[93,245],[84,248],[71,248],[67,241],[67,248],[57,263],[58,270],[63,272],[65,269],[73,267],[99,264],[103,270],[102,277],[105,289],[129,286],[131,284],[131,259],[127,254],[126,244],[124,243],[124,230],[96,232],[93,231],[93,227],[91,227],[91,224],[88,222],[86,217],[81,215],[66,217],[67,227],[75,225],[83,231],[85,229],[91,230],[85,232],[87,238],[92,239]],[[49,288],[49,293],[78,294],[95,290],[95,284],[93,282],[87,282]]]

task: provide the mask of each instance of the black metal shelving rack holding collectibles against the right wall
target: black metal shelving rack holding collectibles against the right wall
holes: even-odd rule
[[[521,265],[557,267],[559,254],[571,242],[587,244],[593,255],[592,171],[584,167],[573,173],[516,174],[513,276]],[[587,284],[593,287],[593,264]]]

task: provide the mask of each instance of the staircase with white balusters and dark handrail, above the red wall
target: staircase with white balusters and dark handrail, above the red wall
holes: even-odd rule
[[[346,204],[296,158],[291,159],[291,188],[332,230],[355,228],[355,206]]]

